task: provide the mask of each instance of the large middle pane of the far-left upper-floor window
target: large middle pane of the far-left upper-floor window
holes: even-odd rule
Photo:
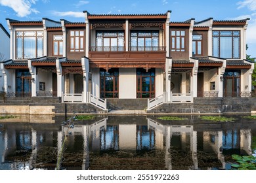
[[[24,58],[35,58],[35,37],[24,37]]]

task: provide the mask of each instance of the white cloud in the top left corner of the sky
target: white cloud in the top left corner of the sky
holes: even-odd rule
[[[35,4],[36,1],[37,0],[0,0],[0,5],[12,8],[17,16],[24,17],[32,12],[35,14],[39,13],[35,8],[31,8],[32,4]]]

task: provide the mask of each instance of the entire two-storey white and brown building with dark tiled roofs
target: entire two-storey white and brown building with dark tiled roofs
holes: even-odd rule
[[[251,97],[248,19],[84,14],[85,22],[7,18],[6,97],[61,97],[104,110],[108,99],[146,98],[150,110],[194,97]]]

